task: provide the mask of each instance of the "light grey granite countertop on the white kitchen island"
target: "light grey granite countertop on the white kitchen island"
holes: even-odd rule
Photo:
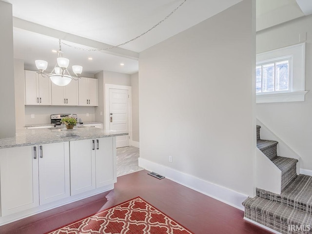
[[[82,127],[74,129],[63,128],[53,130],[47,128],[23,129],[17,130],[15,137],[0,138],[0,149],[102,137],[117,137],[124,135],[128,135],[128,133],[108,133],[104,129],[94,127]]]

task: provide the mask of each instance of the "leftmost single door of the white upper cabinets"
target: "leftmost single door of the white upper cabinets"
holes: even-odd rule
[[[36,72],[25,71],[25,98],[26,105],[39,104],[39,87]]]

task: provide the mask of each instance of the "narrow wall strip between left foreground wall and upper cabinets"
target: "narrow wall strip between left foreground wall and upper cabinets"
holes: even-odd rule
[[[14,59],[15,122],[16,129],[25,127],[25,72],[24,60]]]

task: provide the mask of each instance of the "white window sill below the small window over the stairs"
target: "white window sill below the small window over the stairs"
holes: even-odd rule
[[[255,99],[256,103],[304,101],[306,93],[308,93],[308,91],[294,91],[291,93],[280,94],[262,94],[256,95]]]

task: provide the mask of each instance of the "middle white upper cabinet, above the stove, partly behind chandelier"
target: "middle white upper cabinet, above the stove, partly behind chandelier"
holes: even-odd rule
[[[78,106],[78,81],[72,80],[65,86],[52,83],[52,105]]]

